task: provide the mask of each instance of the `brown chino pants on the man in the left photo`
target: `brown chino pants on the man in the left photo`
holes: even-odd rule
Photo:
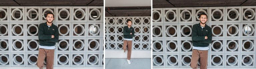
[[[46,58],[46,69],[53,69],[54,64],[54,49],[43,49],[39,48],[37,67],[39,69],[44,68],[44,59]]]

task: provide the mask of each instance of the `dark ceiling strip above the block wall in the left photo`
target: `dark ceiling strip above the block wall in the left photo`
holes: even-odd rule
[[[103,6],[104,0],[0,0],[0,6]]]

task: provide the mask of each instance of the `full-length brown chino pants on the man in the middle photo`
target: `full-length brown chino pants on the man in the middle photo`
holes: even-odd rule
[[[130,60],[131,54],[132,54],[132,40],[124,40],[124,45],[123,45],[124,52],[126,51],[126,48],[127,48],[126,46],[128,46],[127,59]]]

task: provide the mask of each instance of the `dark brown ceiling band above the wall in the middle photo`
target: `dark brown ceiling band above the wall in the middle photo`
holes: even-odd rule
[[[105,16],[151,16],[151,6],[105,7]]]

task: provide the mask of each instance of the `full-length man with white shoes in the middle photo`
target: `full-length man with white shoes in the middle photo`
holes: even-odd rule
[[[128,46],[128,54],[127,54],[127,62],[131,64],[131,53],[132,53],[132,38],[134,37],[134,28],[131,27],[132,21],[128,21],[128,26],[124,26],[123,34],[124,34],[124,53],[126,51],[126,46]]]

